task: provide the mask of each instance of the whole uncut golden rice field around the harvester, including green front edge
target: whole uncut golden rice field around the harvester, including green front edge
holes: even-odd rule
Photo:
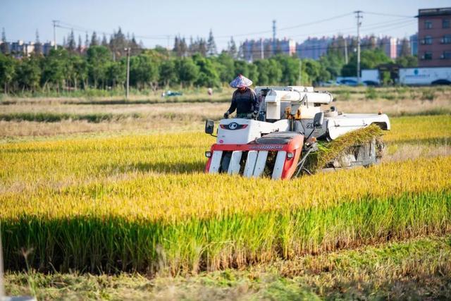
[[[0,144],[6,268],[197,274],[450,233],[450,116],[392,125],[388,158],[419,158],[290,181],[204,174],[202,133]]]

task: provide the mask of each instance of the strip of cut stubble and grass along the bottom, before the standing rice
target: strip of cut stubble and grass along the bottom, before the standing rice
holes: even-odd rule
[[[451,298],[450,275],[448,235],[190,277],[8,273],[6,293],[34,291],[39,300],[436,300]]]

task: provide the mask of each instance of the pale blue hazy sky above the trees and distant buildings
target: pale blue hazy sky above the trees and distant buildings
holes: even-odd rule
[[[235,42],[272,37],[276,20],[276,37],[302,42],[307,37],[356,35],[353,11],[363,11],[361,34],[409,37],[417,31],[419,8],[449,7],[447,0],[228,0],[228,1],[144,1],[144,0],[0,0],[0,27],[6,39],[35,40],[39,31],[42,42],[53,39],[52,20],[74,29],[85,40],[93,30],[111,33],[121,27],[135,33],[145,47],[157,44],[172,47],[175,35],[190,39],[208,37],[212,30],[218,49]],[[390,15],[390,16],[385,16]],[[56,40],[63,41],[70,29],[56,28]]]

